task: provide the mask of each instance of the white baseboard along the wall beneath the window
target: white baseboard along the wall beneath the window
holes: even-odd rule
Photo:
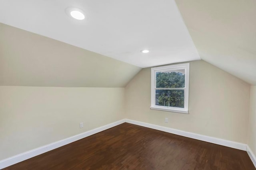
[[[153,124],[150,124],[150,123],[144,123],[144,122],[134,121],[134,120],[130,120],[130,119],[125,119],[125,122],[132,123],[134,125],[148,127],[148,128],[151,128],[151,129],[156,129],[156,130],[159,130],[159,131],[172,133],[172,134],[175,134],[175,135],[180,135],[180,136],[189,137],[189,138],[192,138],[192,139],[197,139],[197,140],[200,140],[200,141],[214,143],[214,144],[222,145],[222,146],[225,146],[225,147],[230,147],[230,148],[235,148],[235,149],[240,149],[240,150],[246,150],[246,147],[247,147],[247,145],[244,144],[244,143],[238,143],[238,142],[234,142],[234,141],[227,141],[227,140],[224,140],[224,139],[219,139],[219,138],[215,138],[215,137],[209,137],[209,136],[200,135],[200,134],[196,134],[196,133],[181,131],[181,130],[172,129],[172,128],[169,128],[169,127],[153,125]]]

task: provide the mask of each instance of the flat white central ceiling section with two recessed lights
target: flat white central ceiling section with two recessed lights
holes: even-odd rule
[[[0,0],[0,22],[142,68],[200,59],[174,0]]]

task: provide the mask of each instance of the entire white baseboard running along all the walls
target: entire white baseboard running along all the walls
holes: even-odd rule
[[[250,156],[254,166],[256,167],[256,157],[253,154],[252,150],[244,143],[228,141],[228,140],[224,140],[224,139],[209,137],[209,136],[200,135],[200,134],[196,134],[196,133],[190,133],[190,132],[181,131],[181,130],[178,130],[178,129],[172,129],[172,128],[169,128],[169,127],[153,125],[153,124],[150,124],[150,123],[144,123],[144,122],[134,121],[134,120],[130,120],[130,119],[122,119],[120,121],[116,121],[114,123],[110,123],[108,125],[104,125],[102,127],[98,127],[96,129],[86,131],[84,133],[80,133],[78,135],[75,135],[75,136],[72,136],[72,137],[69,137],[69,138],[51,143],[49,145],[45,145],[45,146],[42,146],[42,147],[39,147],[39,148],[36,148],[36,149],[33,149],[33,150],[29,150],[27,152],[12,156],[10,158],[0,160],[0,169],[5,168],[7,166],[11,166],[11,165],[16,164],[18,162],[21,162],[23,160],[32,158],[32,157],[37,156],[39,154],[48,152],[50,150],[56,149],[58,147],[62,147],[64,145],[67,145],[67,144],[72,143],[74,141],[78,141],[78,140],[83,139],[85,137],[88,137],[90,135],[94,135],[95,133],[99,133],[99,132],[104,131],[106,129],[109,129],[111,127],[120,125],[124,122],[132,123],[134,125],[139,125],[139,126],[143,126],[143,127],[148,127],[148,128],[151,128],[151,129],[156,129],[156,130],[159,130],[159,131],[172,133],[172,134],[175,134],[175,135],[189,137],[189,138],[197,139],[197,140],[200,140],[200,141],[206,141],[206,142],[209,142],[209,143],[214,143],[214,144],[218,144],[218,145],[222,145],[222,146],[226,146],[226,147],[245,150],[245,151],[248,152],[248,155]]]

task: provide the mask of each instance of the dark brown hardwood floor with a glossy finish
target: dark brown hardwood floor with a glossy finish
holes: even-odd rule
[[[5,170],[255,170],[245,151],[123,123]]]

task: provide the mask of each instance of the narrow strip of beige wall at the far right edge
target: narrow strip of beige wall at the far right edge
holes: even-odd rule
[[[256,155],[256,86],[251,86],[248,146]]]

